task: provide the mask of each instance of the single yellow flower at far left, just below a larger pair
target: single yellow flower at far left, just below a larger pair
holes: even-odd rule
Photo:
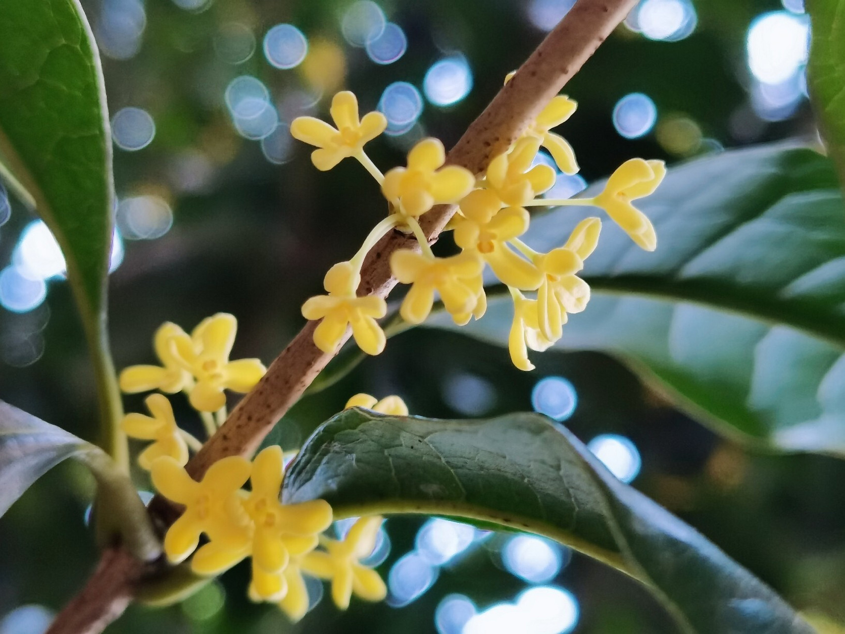
[[[188,445],[179,432],[176,418],[173,418],[170,401],[161,394],[150,394],[144,403],[152,418],[144,414],[129,413],[120,423],[120,429],[130,438],[155,440],[152,445],[141,451],[138,464],[149,471],[156,458],[170,456],[178,464],[184,465],[188,462]]]

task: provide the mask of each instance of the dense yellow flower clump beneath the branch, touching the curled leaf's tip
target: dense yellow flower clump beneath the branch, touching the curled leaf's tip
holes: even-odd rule
[[[171,563],[194,555],[191,569],[212,576],[250,557],[249,597],[277,604],[294,621],[308,611],[303,575],[330,581],[341,609],[353,593],[368,601],[387,593],[379,574],[361,563],[375,548],[382,518],[362,517],[344,538],[326,537],[332,522],[326,501],[281,503],[281,447],[267,447],[251,464],[241,456],[223,458],[200,482],[170,456],[152,462],[150,473],[155,489],[185,509],[165,535]],[[207,541],[199,545],[203,534]]]

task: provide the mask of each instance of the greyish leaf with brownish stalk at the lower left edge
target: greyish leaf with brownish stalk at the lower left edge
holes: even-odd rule
[[[161,555],[134,484],[99,447],[0,401],[0,516],[44,473],[66,458],[84,463],[97,482],[95,520],[101,541],[120,538],[144,561]],[[102,544],[105,545],[105,544]]]

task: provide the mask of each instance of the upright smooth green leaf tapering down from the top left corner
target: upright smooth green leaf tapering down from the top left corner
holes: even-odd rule
[[[30,196],[62,247],[112,452],[124,462],[106,340],[114,186],[100,57],[77,0],[0,0],[0,16],[0,172],[13,177],[10,189]]]

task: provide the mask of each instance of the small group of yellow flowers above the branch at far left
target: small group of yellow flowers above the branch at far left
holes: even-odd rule
[[[237,320],[226,313],[202,320],[190,335],[167,322],[155,331],[153,338],[161,366],[133,365],[124,369],[120,373],[120,388],[128,393],[185,392],[210,436],[226,419],[224,390],[247,392],[266,371],[255,358],[229,360],[236,332]],[[169,456],[184,465],[188,462],[188,448],[199,450],[199,440],[179,429],[166,396],[152,394],[145,403],[151,416],[128,413],[121,423],[123,432],[130,438],[153,441],[138,456],[139,465],[149,470],[152,462],[161,456]]]

